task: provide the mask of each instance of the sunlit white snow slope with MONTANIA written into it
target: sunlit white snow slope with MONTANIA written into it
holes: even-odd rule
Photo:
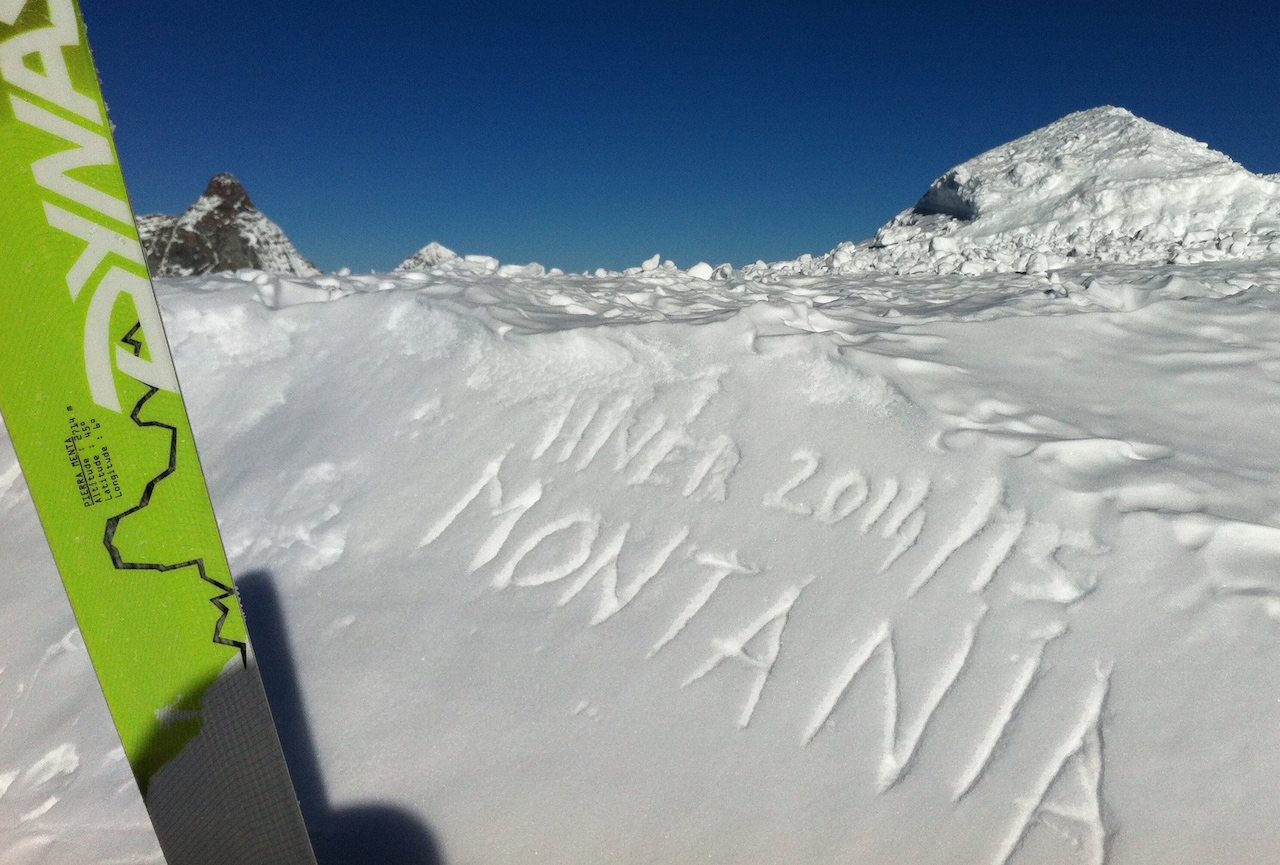
[[[458,864],[1234,865],[1280,850],[1277,288],[160,293],[335,809]],[[0,587],[0,861],[157,861],[8,449]]]

